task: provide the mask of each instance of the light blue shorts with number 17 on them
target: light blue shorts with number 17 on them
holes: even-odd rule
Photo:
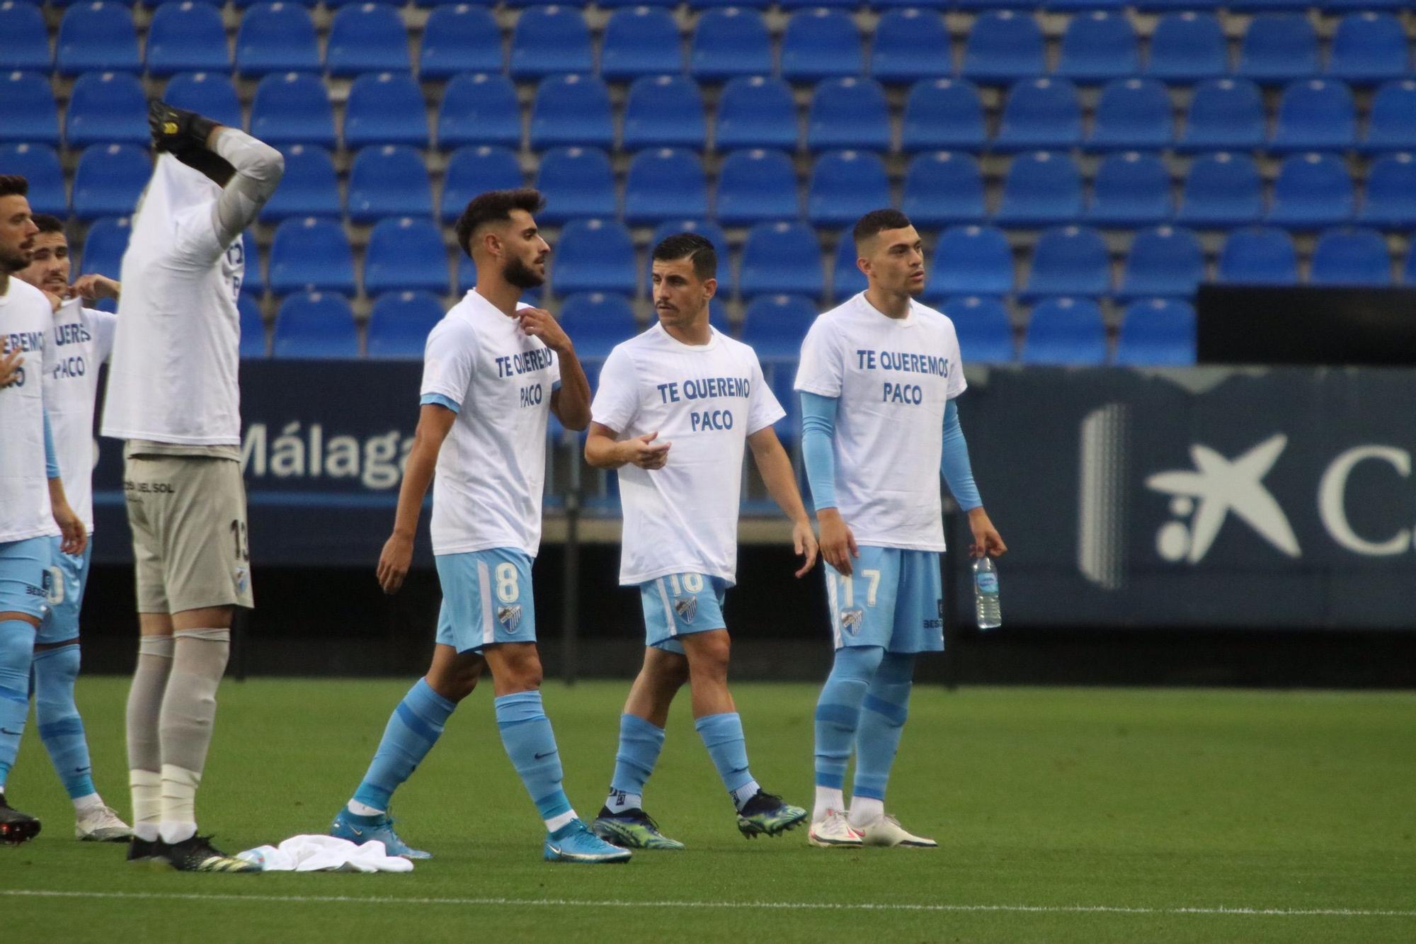
[[[886,652],[943,652],[944,588],[939,553],[861,547],[852,575],[826,567],[835,648],[881,646]]]

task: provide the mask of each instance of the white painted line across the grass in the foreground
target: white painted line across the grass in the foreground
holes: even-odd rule
[[[238,879],[239,880],[239,879]],[[428,899],[355,894],[195,894],[180,892],[61,892],[50,889],[0,889],[14,899],[119,899],[147,901],[289,901],[296,904],[452,904],[481,907],[598,907],[598,909],[722,909],[763,911],[1004,911],[1022,914],[1242,914],[1252,917],[1406,917],[1416,910],[1396,909],[1246,909],[1229,906],[1129,907],[1119,904],[908,904],[840,901],[622,901],[615,899]]]

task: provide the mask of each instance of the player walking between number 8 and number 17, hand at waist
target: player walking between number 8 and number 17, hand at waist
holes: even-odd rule
[[[779,835],[806,811],[763,791],[748,768],[742,719],[728,692],[724,595],[736,580],[742,458],[752,446],[792,541],[816,564],[816,536],[792,461],[772,424],[786,415],[750,347],[708,325],[718,288],[712,244],[685,232],[654,248],[658,323],[610,352],[595,393],[585,459],[619,469],[624,534],[620,584],[639,587],[644,666],[620,716],[609,798],[595,831],[617,845],[683,849],[644,812],[644,784],[664,744],[668,706],[692,689],[694,727],[738,808],[743,836]]]

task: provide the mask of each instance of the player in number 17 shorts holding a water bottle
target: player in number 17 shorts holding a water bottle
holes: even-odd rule
[[[867,288],[801,344],[801,452],[821,530],[835,663],[816,707],[814,846],[935,848],[885,812],[915,656],[944,648],[939,475],[969,512],[970,553],[1007,547],[983,509],[953,403],[966,388],[953,322],[915,300],[919,234],[895,210],[852,232]],[[855,748],[847,814],[845,764]]]

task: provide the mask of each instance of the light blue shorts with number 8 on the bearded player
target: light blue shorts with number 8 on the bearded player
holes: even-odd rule
[[[438,554],[443,604],[438,642],[480,652],[498,642],[535,642],[531,557],[510,547]]]

